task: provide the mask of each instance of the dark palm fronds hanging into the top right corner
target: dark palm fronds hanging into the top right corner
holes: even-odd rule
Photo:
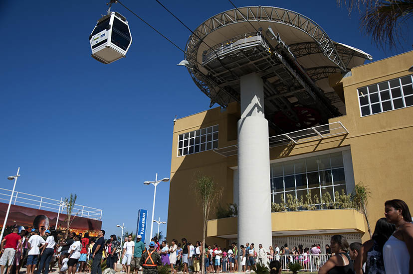
[[[349,13],[357,8],[362,14],[360,27],[372,36],[380,47],[395,47],[405,35],[401,25],[413,15],[413,0],[337,0],[337,4],[347,4]]]

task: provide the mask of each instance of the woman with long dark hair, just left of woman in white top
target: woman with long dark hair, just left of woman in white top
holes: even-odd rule
[[[354,265],[356,274],[363,274],[364,263],[366,263],[365,274],[386,273],[383,262],[383,246],[395,229],[395,225],[389,223],[386,218],[377,220],[372,239],[362,245],[357,255]]]

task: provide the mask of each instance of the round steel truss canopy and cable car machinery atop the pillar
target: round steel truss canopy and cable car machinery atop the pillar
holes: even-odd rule
[[[261,22],[281,24],[296,34],[304,32],[308,38],[287,45],[280,34],[271,35],[269,30],[263,30]],[[245,24],[251,24],[256,31],[243,33]],[[208,35],[219,33],[220,29],[228,33],[227,26],[231,26],[229,33],[237,33],[235,28],[243,34],[228,37],[217,45],[207,44]],[[200,48],[205,50],[200,52]],[[298,59],[307,55],[324,56],[317,58],[324,58],[325,65],[303,67]],[[306,16],[268,6],[242,7],[212,16],[190,36],[185,53],[191,77],[210,98],[210,106],[218,103],[226,107],[231,101],[240,102],[240,77],[258,73],[264,80],[266,118],[280,134],[325,124],[329,118],[341,115],[332,102],[340,101],[340,97],[333,92],[327,95],[316,81],[347,73],[355,56],[371,59],[360,50],[332,41]]]

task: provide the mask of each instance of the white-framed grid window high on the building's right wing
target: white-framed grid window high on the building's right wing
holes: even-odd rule
[[[357,89],[360,115],[368,116],[413,105],[413,75]]]

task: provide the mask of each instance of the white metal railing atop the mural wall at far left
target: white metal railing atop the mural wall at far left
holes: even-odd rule
[[[8,203],[10,201],[10,195],[10,189],[0,188],[0,202]],[[64,203],[63,198],[56,200],[24,192],[14,191],[13,198],[11,199],[11,204],[66,214],[66,204]],[[102,209],[75,204],[72,209],[72,215],[94,220],[101,220]]]

